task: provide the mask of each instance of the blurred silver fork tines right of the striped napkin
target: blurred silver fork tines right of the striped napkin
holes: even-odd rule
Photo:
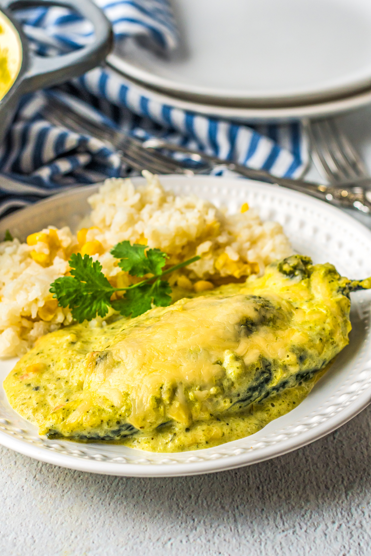
[[[317,170],[333,185],[359,183],[371,186],[371,177],[348,137],[334,118],[306,122],[311,143],[311,157]]]

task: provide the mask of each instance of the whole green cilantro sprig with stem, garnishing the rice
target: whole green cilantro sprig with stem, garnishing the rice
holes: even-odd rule
[[[160,249],[122,241],[111,249],[111,254],[120,259],[118,266],[131,276],[152,276],[127,287],[113,287],[103,274],[99,261],[93,262],[88,255],[82,257],[80,253],[73,253],[68,261],[71,276],[57,278],[49,291],[60,307],[70,307],[78,322],[95,319],[97,314],[104,317],[110,306],[121,315],[135,317],[151,309],[152,304],[170,305],[171,287],[169,282],[161,280],[162,277],[200,259],[193,257],[163,272],[167,255]],[[125,291],[125,296],[111,301],[116,291]]]

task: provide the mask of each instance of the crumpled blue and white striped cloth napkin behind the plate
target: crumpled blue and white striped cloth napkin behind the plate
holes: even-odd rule
[[[96,3],[112,21],[116,39],[134,37],[157,51],[176,47],[177,30],[167,0]],[[67,8],[22,9],[17,17],[39,55],[71,51],[93,37],[91,23]],[[298,177],[308,162],[300,123],[248,126],[186,112],[147,98],[125,77],[98,67],[57,90],[22,98],[0,148],[0,172],[22,186],[0,181],[0,216],[66,187],[120,175],[119,157],[107,145],[44,120],[41,108],[52,94],[88,102],[103,121],[142,140],[164,137],[276,176]]]

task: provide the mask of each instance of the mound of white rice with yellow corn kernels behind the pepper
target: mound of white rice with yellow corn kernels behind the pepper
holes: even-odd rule
[[[68,270],[72,252],[91,255],[113,286],[125,287],[135,277],[117,266],[110,249],[120,241],[157,247],[174,265],[194,255],[201,259],[170,275],[174,295],[203,291],[226,281],[243,280],[265,265],[291,254],[291,246],[276,222],[261,222],[246,205],[227,215],[196,196],[164,191],[156,176],[145,172],[147,185],[130,180],[106,180],[89,198],[90,216],[77,235],[54,227],[0,243],[0,356],[19,356],[38,337],[70,324],[70,310],[58,307],[50,284]],[[117,294],[116,294],[117,295]],[[102,319],[91,324],[100,325]]]

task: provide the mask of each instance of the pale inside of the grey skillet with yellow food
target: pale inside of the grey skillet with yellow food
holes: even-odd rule
[[[0,100],[16,81],[22,64],[22,43],[13,23],[0,12]]]

